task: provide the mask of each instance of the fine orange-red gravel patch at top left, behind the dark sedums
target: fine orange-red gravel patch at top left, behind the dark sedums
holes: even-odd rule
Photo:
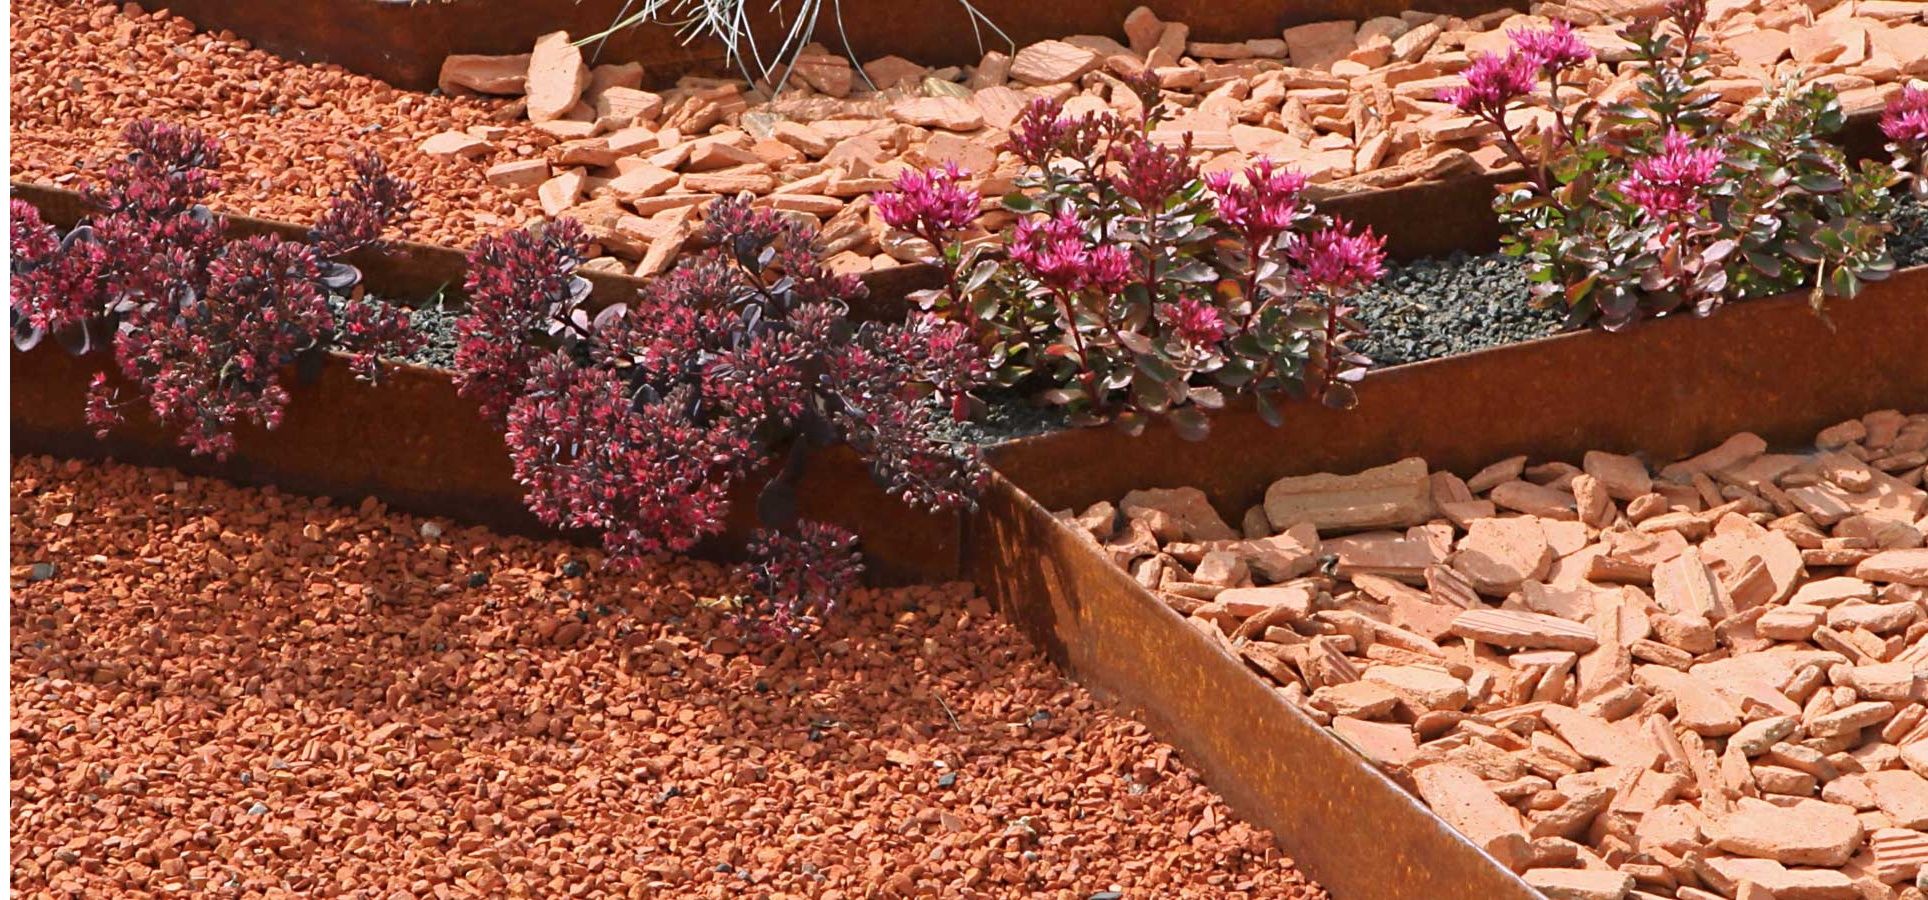
[[[357,148],[378,150],[418,185],[403,235],[453,247],[540,216],[526,197],[488,185],[416,146],[430,135],[497,123],[505,100],[401,91],[337,66],[308,66],[245,40],[195,33],[193,23],[137,6],[10,0],[13,179],[96,177],[125,152],[121,127],[139,118],[195,125],[222,139],[228,166],[214,204],[226,212],[310,222],[349,177]],[[503,121],[499,145],[549,141],[526,121]],[[513,150],[511,150],[513,156]],[[62,181],[66,179],[66,181]]]

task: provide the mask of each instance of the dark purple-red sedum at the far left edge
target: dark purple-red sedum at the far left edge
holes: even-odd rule
[[[237,422],[281,422],[285,366],[341,349],[376,378],[378,357],[418,347],[407,310],[362,297],[361,272],[339,262],[409,212],[411,187],[378,156],[355,160],[307,241],[229,239],[201,202],[218,185],[214,139],[152,119],[123,139],[127,156],[87,191],[100,212],[66,235],[13,200],[15,347],[52,335],[75,353],[112,349],[154,418],[214,457],[233,451]],[[129,403],[96,374],[87,420],[106,436]]]

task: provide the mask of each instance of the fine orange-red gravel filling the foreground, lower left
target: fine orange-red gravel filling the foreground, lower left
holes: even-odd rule
[[[704,563],[120,464],[12,491],[19,896],[1323,896],[968,586],[740,651]]]

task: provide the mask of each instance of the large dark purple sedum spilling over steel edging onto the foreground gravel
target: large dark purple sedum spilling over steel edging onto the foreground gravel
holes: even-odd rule
[[[933,428],[987,368],[962,324],[854,322],[864,285],[829,274],[804,225],[748,197],[706,216],[708,252],[594,316],[578,225],[484,241],[457,380],[505,422],[530,511],[600,532],[615,565],[721,534],[758,488],[742,621],[800,634],[862,570],[848,530],[798,516],[808,455],[844,443],[912,507],[966,507],[987,470]]]

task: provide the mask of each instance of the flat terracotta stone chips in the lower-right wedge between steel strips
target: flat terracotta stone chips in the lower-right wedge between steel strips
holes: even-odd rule
[[[1548,896],[1920,900],[1928,412],[1527,463],[1060,516]]]

